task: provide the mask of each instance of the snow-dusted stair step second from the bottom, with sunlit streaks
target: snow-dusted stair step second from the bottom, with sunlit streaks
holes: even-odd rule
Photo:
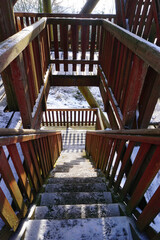
[[[35,219],[76,219],[76,218],[102,218],[120,216],[119,205],[113,204],[79,204],[54,205],[36,207]]]

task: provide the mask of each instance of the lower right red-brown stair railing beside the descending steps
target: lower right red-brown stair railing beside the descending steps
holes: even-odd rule
[[[108,179],[119,198],[134,214],[141,231],[160,212],[160,186],[145,200],[145,193],[160,170],[160,131],[123,130],[87,132],[86,151]],[[151,238],[150,238],[151,239]]]

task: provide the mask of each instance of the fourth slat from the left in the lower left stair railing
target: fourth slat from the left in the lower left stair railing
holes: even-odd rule
[[[34,186],[35,191],[38,192],[38,190],[39,190],[38,179],[37,179],[37,176],[36,176],[34,166],[32,164],[32,159],[31,159],[31,156],[30,156],[28,143],[27,142],[21,143],[21,148],[22,148],[22,151],[23,151],[23,154],[24,154],[25,163],[26,163],[26,166],[27,166],[27,169],[28,169],[28,173],[29,173],[29,175],[31,177],[31,180],[32,180],[32,184]]]

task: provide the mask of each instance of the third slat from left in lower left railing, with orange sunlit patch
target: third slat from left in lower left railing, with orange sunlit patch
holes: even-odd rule
[[[16,148],[16,145],[9,145],[8,147],[9,155],[11,156],[12,162],[14,164],[14,167],[16,169],[16,172],[19,177],[19,181],[21,182],[21,185],[23,187],[23,190],[25,194],[27,195],[27,198],[29,199],[30,202],[33,201],[33,193],[31,191],[31,187],[29,185],[29,181],[26,175],[26,172],[24,170],[24,167],[22,165],[22,161],[20,159],[18,150]]]

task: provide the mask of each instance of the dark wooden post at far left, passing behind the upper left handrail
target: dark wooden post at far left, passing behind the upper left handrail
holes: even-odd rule
[[[15,1],[14,1],[15,2]],[[16,25],[14,21],[14,13],[11,1],[0,1],[0,26],[1,26],[1,34],[0,34],[0,42],[7,39],[11,35],[16,33]],[[12,83],[12,75],[10,66],[7,67],[1,73],[3,84],[5,87],[5,92],[7,95],[7,103],[8,109],[10,111],[17,111],[18,104],[17,98],[14,91],[13,83]]]

